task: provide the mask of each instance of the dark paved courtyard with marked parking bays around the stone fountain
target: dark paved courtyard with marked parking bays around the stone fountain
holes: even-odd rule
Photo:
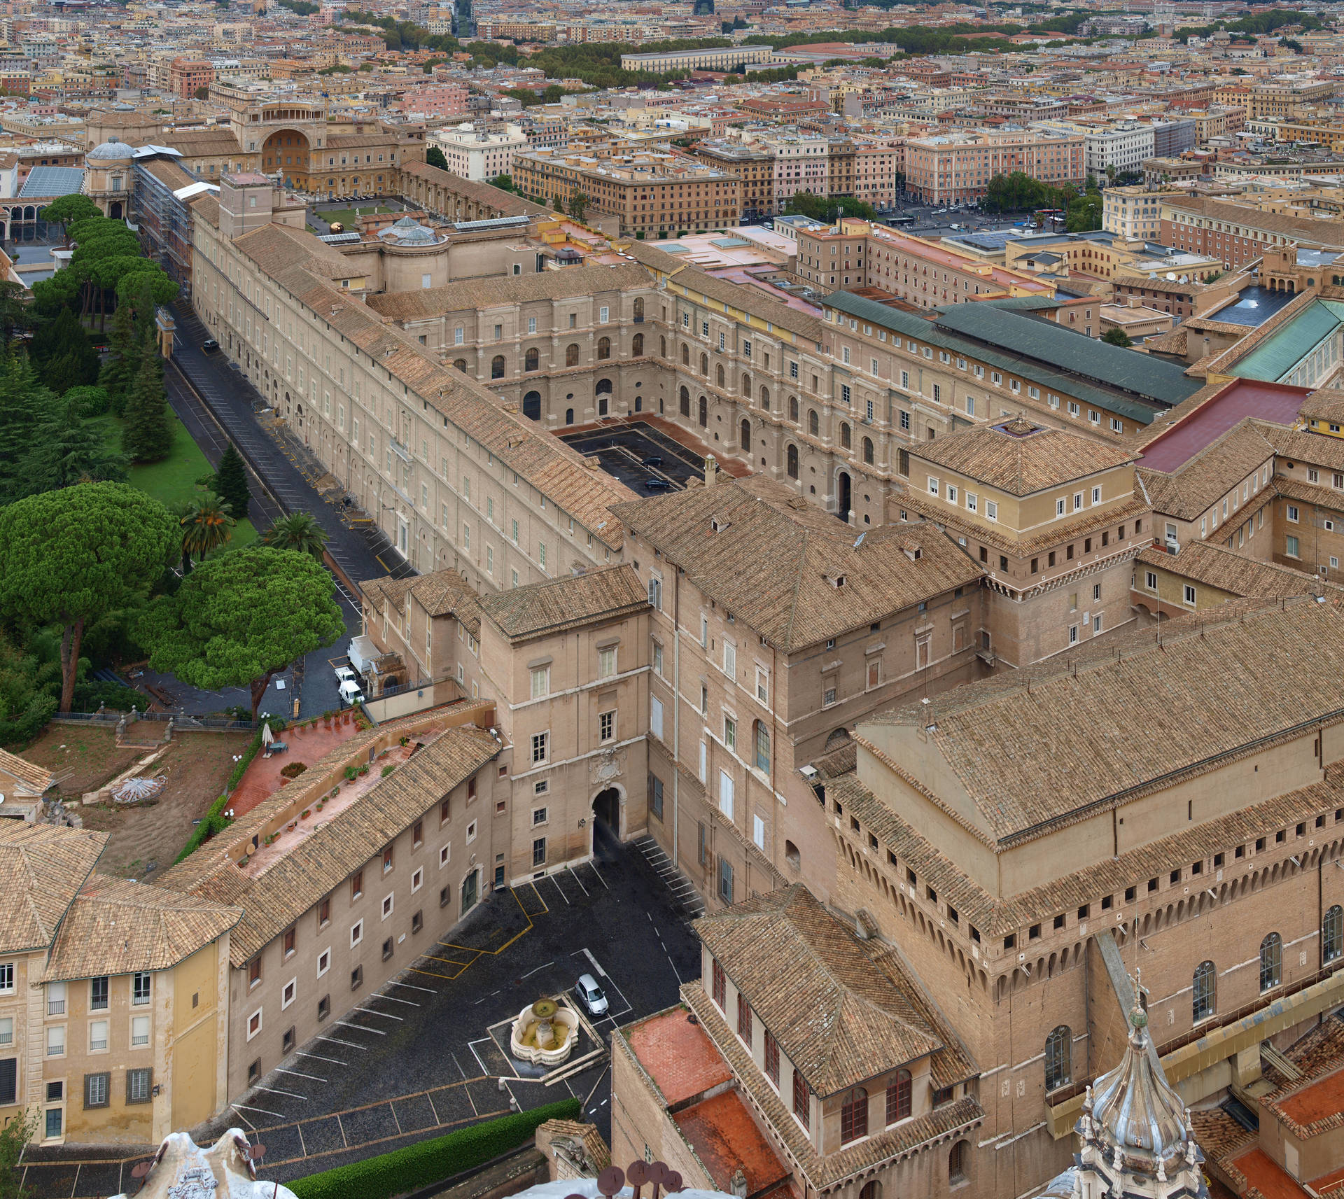
[[[595,859],[491,895],[452,934],[300,1046],[211,1128],[266,1147],[261,1176],[280,1182],[386,1153],[511,1110],[575,1095],[610,1136],[606,1039],[677,1000],[699,977],[699,942],[637,845],[603,839]],[[509,1023],[540,997],[567,996],[593,975],[602,1018],[582,1012],[570,1062],[601,1052],[551,1085],[508,1052]],[[559,1070],[556,1073],[563,1073]],[[24,1184],[36,1199],[106,1196],[138,1155],[117,1147],[35,1151]]]

